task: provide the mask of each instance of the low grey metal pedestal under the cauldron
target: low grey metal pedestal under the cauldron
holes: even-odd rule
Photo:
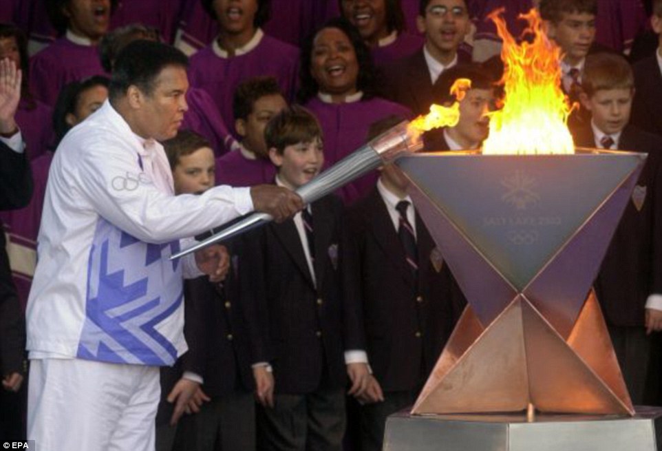
[[[410,415],[388,418],[384,451],[662,451],[662,408],[637,415]]]

